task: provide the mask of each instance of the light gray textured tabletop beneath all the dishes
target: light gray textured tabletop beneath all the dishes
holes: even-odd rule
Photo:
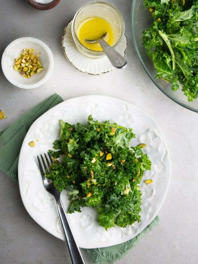
[[[116,264],[197,263],[197,114],[168,99],[144,72],[131,41],[129,0],[107,1],[121,11],[125,20],[127,68],[90,76],[67,62],[61,47],[63,30],[86,2],[90,1],[62,0],[52,10],[37,11],[25,0],[1,0],[0,54],[16,38],[37,37],[51,48],[55,67],[49,80],[32,91],[15,88],[0,72],[0,108],[8,116],[0,121],[0,128],[6,128],[54,92],[65,100],[86,94],[110,95],[147,111],[166,136],[172,180],[159,212],[158,226]],[[71,263],[64,242],[31,219],[22,204],[18,185],[3,172],[0,172],[0,201],[0,263]],[[87,256],[85,262],[91,263]]]

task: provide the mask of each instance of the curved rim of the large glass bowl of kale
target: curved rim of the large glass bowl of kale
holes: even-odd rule
[[[159,88],[161,90],[162,93],[166,94],[167,97],[169,97],[171,100],[173,100],[175,103],[178,103],[180,106],[183,106],[189,110],[192,110],[196,113],[198,113],[198,109],[193,108],[191,106],[187,106],[186,104],[183,104],[182,102],[180,102],[179,100],[177,100],[175,97],[171,96],[170,94],[166,93],[166,91],[157,83],[157,80],[153,78],[153,76],[150,74],[150,72],[148,71],[146,65],[144,64],[140,52],[138,50],[138,46],[136,43],[136,38],[135,38],[135,32],[134,32],[134,21],[133,21],[133,14],[135,12],[135,4],[136,4],[136,0],[132,1],[132,6],[131,6],[131,32],[132,32],[132,40],[133,40],[133,44],[135,46],[135,51],[136,54],[138,55],[138,58],[140,59],[140,62],[142,64],[142,66],[144,67],[144,70],[146,71],[146,73],[148,74],[148,76],[150,77],[150,79],[153,81],[153,83],[157,86],[157,88]],[[185,96],[185,95],[184,95]],[[197,99],[198,100],[198,99]]]

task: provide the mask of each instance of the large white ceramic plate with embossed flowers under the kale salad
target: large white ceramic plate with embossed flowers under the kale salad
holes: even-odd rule
[[[109,119],[111,123],[132,127],[136,134],[132,145],[147,144],[143,151],[148,153],[152,161],[152,171],[146,171],[140,184],[143,193],[140,223],[126,228],[116,226],[107,232],[97,223],[97,213],[93,208],[84,207],[82,213],[68,214],[74,236],[82,248],[116,245],[139,234],[160,210],[170,182],[170,158],[166,141],[157,123],[147,113],[130,103],[108,96],[90,95],[69,99],[48,110],[32,124],[20,152],[21,197],[26,210],[41,227],[64,239],[55,202],[42,184],[37,154],[52,149],[52,143],[59,137],[59,119],[71,124],[86,124],[90,114],[101,122]],[[30,141],[35,141],[36,146],[30,147]],[[152,179],[153,183],[146,185],[144,180],[148,179]],[[67,193],[63,191],[61,197],[67,210]]]

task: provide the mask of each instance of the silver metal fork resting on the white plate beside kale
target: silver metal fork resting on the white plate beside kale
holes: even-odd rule
[[[73,236],[71,227],[67,219],[67,215],[62,205],[62,201],[60,198],[61,193],[55,188],[53,182],[45,177],[45,174],[46,174],[45,172],[50,171],[50,166],[54,163],[54,161],[52,157],[49,155],[49,152],[48,152],[49,159],[46,154],[44,155],[45,155],[45,159],[46,159],[48,167],[46,166],[43,156],[41,155],[42,164],[41,164],[39,157],[37,156],[38,164],[39,164],[39,168],[40,168],[41,176],[43,180],[43,185],[45,187],[45,190],[48,191],[54,197],[56,201],[58,213],[59,213],[61,224],[62,224],[62,229],[65,235],[65,239],[66,239],[67,246],[68,246],[69,253],[70,253],[71,262],[73,264],[84,264],[83,257],[80,253],[80,249],[78,245],[76,244],[75,238]]]

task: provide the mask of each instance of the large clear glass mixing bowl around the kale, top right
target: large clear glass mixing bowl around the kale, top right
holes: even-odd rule
[[[144,9],[144,0],[133,0],[131,8],[131,30],[132,39],[135,46],[136,53],[142,63],[144,70],[147,72],[153,83],[166,94],[174,102],[181,106],[186,107],[192,111],[198,112],[198,99],[193,102],[188,102],[187,97],[183,94],[182,90],[171,90],[171,85],[164,80],[156,79],[156,70],[152,61],[146,54],[146,49],[142,45],[142,31],[149,28],[153,23],[148,10]]]

